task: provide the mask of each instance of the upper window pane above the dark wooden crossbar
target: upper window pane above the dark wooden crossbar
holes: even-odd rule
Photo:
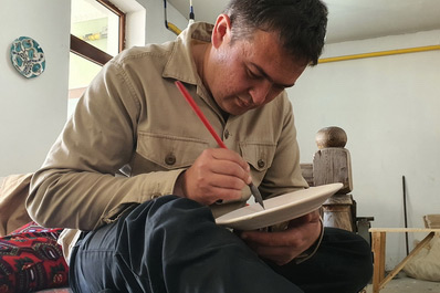
[[[72,0],[71,33],[116,55],[119,43],[119,17],[96,0]]]

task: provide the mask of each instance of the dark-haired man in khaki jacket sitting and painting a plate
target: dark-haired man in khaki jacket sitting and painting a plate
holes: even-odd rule
[[[214,25],[104,66],[28,199],[43,226],[83,231],[63,243],[75,244],[75,292],[343,293],[368,282],[366,242],[323,229],[317,211],[271,232],[232,233],[212,217],[243,206],[251,180],[265,198],[306,187],[284,88],[317,63],[326,14],[318,0],[232,0]]]

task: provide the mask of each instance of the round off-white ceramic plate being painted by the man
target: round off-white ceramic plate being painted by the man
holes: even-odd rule
[[[342,187],[343,184],[331,184],[285,193],[264,200],[265,209],[252,203],[217,218],[216,222],[239,230],[272,226],[316,210]]]

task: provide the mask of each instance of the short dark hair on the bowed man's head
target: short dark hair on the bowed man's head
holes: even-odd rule
[[[231,0],[223,13],[231,19],[232,43],[255,30],[275,31],[287,53],[317,64],[328,13],[319,0]]]

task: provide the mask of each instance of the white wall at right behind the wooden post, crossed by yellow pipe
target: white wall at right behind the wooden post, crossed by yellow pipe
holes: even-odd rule
[[[323,57],[439,44],[440,31],[331,44]],[[289,91],[302,163],[312,163],[315,134],[339,126],[348,136],[358,216],[374,227],[408,227],[440,212],[440,51],[318,64]],[[412,240],[423,234],[409,236]],[[387,265],[406,253],[405,234],[388,236]]]

